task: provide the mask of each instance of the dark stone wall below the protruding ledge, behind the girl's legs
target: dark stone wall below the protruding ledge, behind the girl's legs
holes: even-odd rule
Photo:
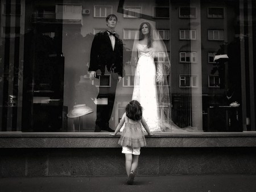
[[[142,148],[138,175],[255,174],[256,148]],[[0,177],[125,176],[121,148],[1,149]]]

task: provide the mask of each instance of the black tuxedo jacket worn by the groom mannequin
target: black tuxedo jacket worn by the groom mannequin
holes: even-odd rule
[[[105,73],[105,66],[109,72],[117,72],[123,76],[123,43],[115,37],[115,47],[112,44],[108,32],[99,32],[94,36],[90,49],[90,66],[88,71],[101,70]]]

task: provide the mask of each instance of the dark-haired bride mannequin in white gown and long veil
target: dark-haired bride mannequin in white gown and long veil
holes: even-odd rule
[[[157,31],[143,22],[135,37],[131,67],[134,74],[132,100],[141,103],[150,131],[183,131],[171,121],[171,102],[167,77],[170,60]]]

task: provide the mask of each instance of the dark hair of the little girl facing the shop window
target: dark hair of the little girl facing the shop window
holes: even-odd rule
[[[142,108],[141,104],[136,101],[130,101],[125,108],[126,116],[134,121],[139,121],[142,118]]]

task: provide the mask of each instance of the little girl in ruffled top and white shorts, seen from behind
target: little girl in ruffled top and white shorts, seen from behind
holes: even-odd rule
[[[142,125],[149,136],[153,134],[150,133],[147,123],[142,117],[142,108],[138,101],[130,101],[130,103],[126,105],[125,111],[126,113],[123,114],[117,129],[110,135],[116,135],[123,126],[123,123],[125,123],[125,128],[123,129],[118,144],[122,146],[122,153],[125,153],[125,167],[128,176],[127,184],[132,185],[135,177],[134,172],[138,166],[141,147],[146,146]]]

